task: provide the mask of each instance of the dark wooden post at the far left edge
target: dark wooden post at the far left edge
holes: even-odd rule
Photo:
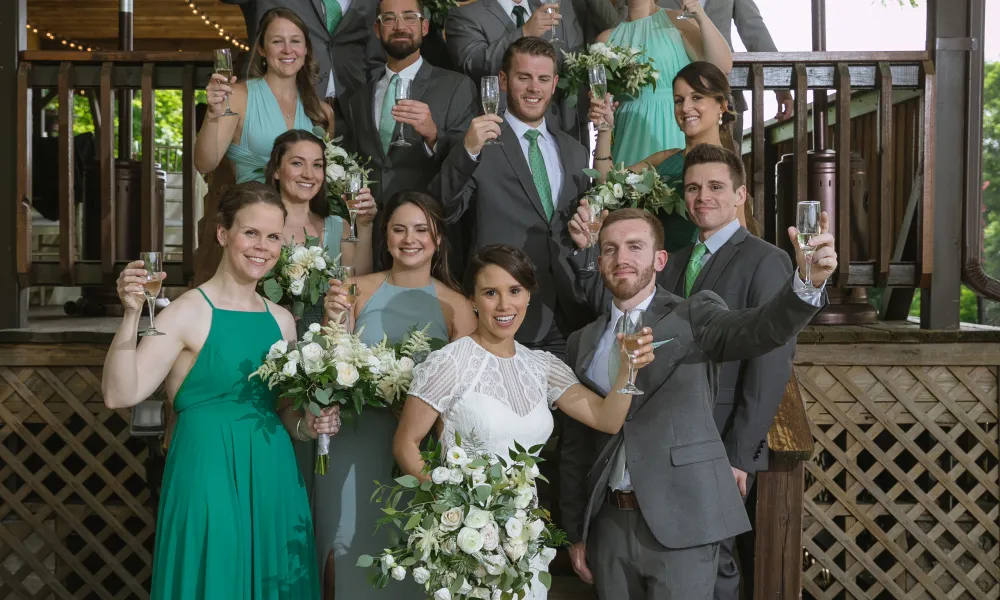
[[[28,324],[28,290],[17,268],[18,244],[31,235],[24,205],[30,206],[31,198],[18,195],[18,182],[25,180],[17,173],[18,105],[31,101],[30,94],[18,97],[18,52],[27,47],[27,17],[27,0],[0,2],[0,93],[7,98],[0,102],[0,255],[4,257],[0,259],[0,329]]]

